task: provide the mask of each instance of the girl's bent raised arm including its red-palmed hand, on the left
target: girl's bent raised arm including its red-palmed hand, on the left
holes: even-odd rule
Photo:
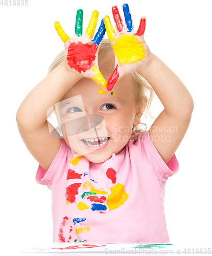
[[[82,35],[82,14],[82,10],[77,11],[75,35],[72,38],[65,34],[58,22],[55,23],[55,28],[65,45],[64,61],[26,96],[16,114],[23,142],[45,170],[48,170],[61,145],[61,139],[51,137],[49,132],[49,116],[46,116],[46,113],[51,106],[58,103],[82,77],[93,79],[102,90],[107,91],[106,81],[99,71],[97,61],[105,34],[104,22],[102,21],[97,34],[91,39],[99,13],[93,11],[85,35]],[[89,57],[79,58],[78,50]]]

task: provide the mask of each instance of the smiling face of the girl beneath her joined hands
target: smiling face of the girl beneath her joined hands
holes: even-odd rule
[[[109,78],[111,70],[105,68],[104,71],[105,78]],[[60,102],[60,121],[65,123],[62,132],[66,134],[66,144],[93,163],[104,162],[113,153],[120,152],[130,139],[133,124],[140,122],[130,75],[115,84],[112,95],[109,91],[100,94],[99,90],[93,80],[82,78]],[[95,139],[100,140],[96,142]]]

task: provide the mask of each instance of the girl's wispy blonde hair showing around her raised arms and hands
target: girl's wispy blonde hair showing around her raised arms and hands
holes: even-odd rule
[[[109,54],[109,52],[111,54]],[[109,39],[103,39],[101,43],[101,47],[98,54],[98,61],[103,59],[105,59],[105,61],[110,60],[115,65],[115,57],[114,57],[113,49]],[[63,62],[63,60],[64,60],[64,50],[62,50],[57,55],[55,60],[52,62],[52,65],[48,70],[48,74],[51,71],[53,71],[61,62]],[[148,118],[148,116],[150,116],[150,118],[155,118],[154,116],[152,116],[150,112],[150,106],[155,96],[155,92],[153,88],[150,86],[148,81],[142,75],[140,75],[137,71],[132,72],[130,75],[131,75],[132,83],[134,85],[135,104],[140,106],[140,113],[142,113],[142,115],[144,115],[146,118]],[[146,98],[149,98],[147,105],[146,105]],[[59,123],[58,111],[56,109],[50,115],[49,119],[53,121],[57,119],[57,123]],[[144,125],[145,125],[145,129],[143,128]],[[59,133],[61,133],[61,131],[59,131],[58,129],[56,130]],[[138,125],[133,125],[131,139],[139,136],[140,133],[144,133],[146,130],[147,130],[147,124],[145,123],[140,122]]]

